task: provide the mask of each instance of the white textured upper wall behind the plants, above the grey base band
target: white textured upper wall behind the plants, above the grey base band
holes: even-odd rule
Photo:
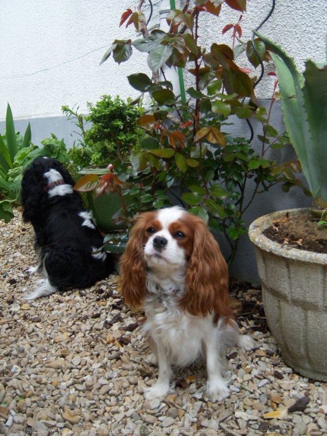
[[[148,72],[146,56],[137,52],[117,65],[112,58],[99,66],[115,38],[135,38],[132,26],[119,28],[121,13],[136,0],[2,0],[0,11],[0,119],[7,102],[15,118],[60,115],[61,106],[77,105],[86,111],[86,102],[96,102],[103,94],[126,98],[136,96],[126,76]],[[153,0],[159,23],[160,0]],[[178,2],[176,2],[178,3]],[[248,0],[243,40],[251,37],[267,15],[271,1]],[[201,22],[200,34],[208,46],[213,41],[230,43],[222,37],[224,24],[236,22],[239,12],[223,8],[216,19]],[[325,60],[327,1],[276,0],[275,11],[262,33],[272,37],[292,54],[302,69],[304,60]],[[186,78],[188,82],[188,79]],[[257,90],[259,98],[270,97],[272,79]],[[33,132],[32,132],[33,133]]]

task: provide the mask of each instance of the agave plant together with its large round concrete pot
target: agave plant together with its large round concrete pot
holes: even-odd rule
[[[327,64],[308,60],[301,74],[278,45],[257,36],[271,50],[286,131],[307,179],[313,207],[258,218],[250,225],[249,237],[255,247],[267,321],[283,359],[300,374],[327,381]],[[311,239],[320,239],[320,253],[303,249],[305,234],[295,241],[282,237],[282,243],[265,236],[272,226],[278,236],[293,219],[307,223],[317,212],[318,224],[307,225],[316,227]],[[299,226],[297,222],[293,228]]]

